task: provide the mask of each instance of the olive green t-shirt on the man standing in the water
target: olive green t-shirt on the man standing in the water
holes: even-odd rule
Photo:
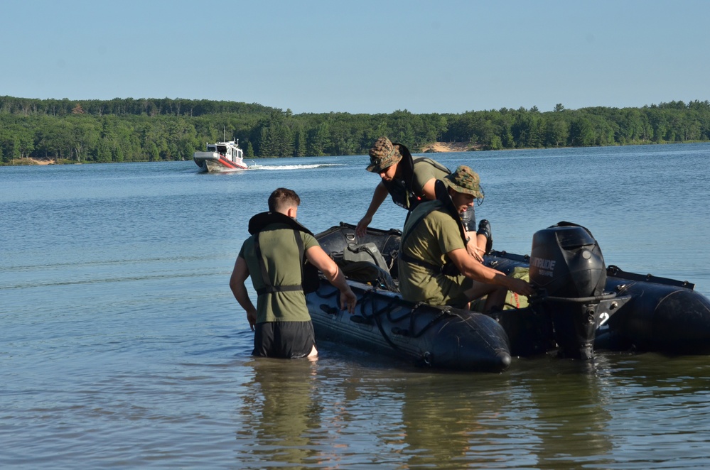
[[[254,251],[254,237],[259,236],[259,248],[267,268],[269,281],[274,287],[301,284],[301,260],[298,258],[296,236],[303,239],[303,249],[318,246],[318,241],[303,231],[294,231],[286,224],[271,224],[259,234],[250,236],[239,252],[249,268],[254,289],[266,287],[262,280],[262,270]],[[257,296],[257,323],[264,322],[308,322],[311,315],[306,307],[303,290],[275,292]]]

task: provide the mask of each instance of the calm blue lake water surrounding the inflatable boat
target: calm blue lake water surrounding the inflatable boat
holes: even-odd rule
[[[710,295],[710,144],[430,156],[480,173],[494,248],[529,253],[534,231],[576,222],[607,264]],[[543,356],[500,374],[328,343],[315,362],[250,357],[227,285],[249,217],[284,186],[311,230],[354,224],[379,181],[366,163],[0,168],[0,466],[710,467],[708,356]],[[387,202],[372,226],[404,216]]]

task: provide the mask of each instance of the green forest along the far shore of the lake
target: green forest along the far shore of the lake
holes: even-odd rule
[[[293,114],[260,104],[193,99],[0,97],[0,163],[191,159],[205,143],[239,139],[245,158],[364,155],[380,136],[413,153],[434,142],[473,149],[710,141],[710,102],[463,114]]]

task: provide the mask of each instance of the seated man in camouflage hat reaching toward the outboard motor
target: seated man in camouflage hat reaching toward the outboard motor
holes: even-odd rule
[[[439,199],[419,204],[404,224],[398,260],[404,300],[463,308],[488,295],[483,308],[488,313],[502,307],[508,290],[534,295],[525,280],[510,278],[466,253],[461,214],[480,197],[478,174],[461,165],[442,181]]]

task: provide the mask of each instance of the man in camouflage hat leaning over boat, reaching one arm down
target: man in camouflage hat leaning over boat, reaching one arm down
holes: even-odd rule
[[[407,147],[392,143],[387,137],[378,138],[370,148],[370,165],[367,171],[378,173],[382,180],[375,187],[375,194],[372,195],[372,202],[365,217],[357,223],[357,236],[365,236],[367,226],[372,222],[372,217],[382,202],[387,199],[387,194],[392,195],[395,204],[412,212],[420,202],[436,199],[434,183],[451,174],[448,168],[431,158],[412,158]],[[480,200],[483,200],[483,193],[478,194]],[[473,204],[467,207],[463,222],[468,231],[476,231]],[[493,245],[488,220],[480,221],[473,239],[474,242],[467,244],[466,249],[478,261],[483,261],[483,254],[488,253]]]

